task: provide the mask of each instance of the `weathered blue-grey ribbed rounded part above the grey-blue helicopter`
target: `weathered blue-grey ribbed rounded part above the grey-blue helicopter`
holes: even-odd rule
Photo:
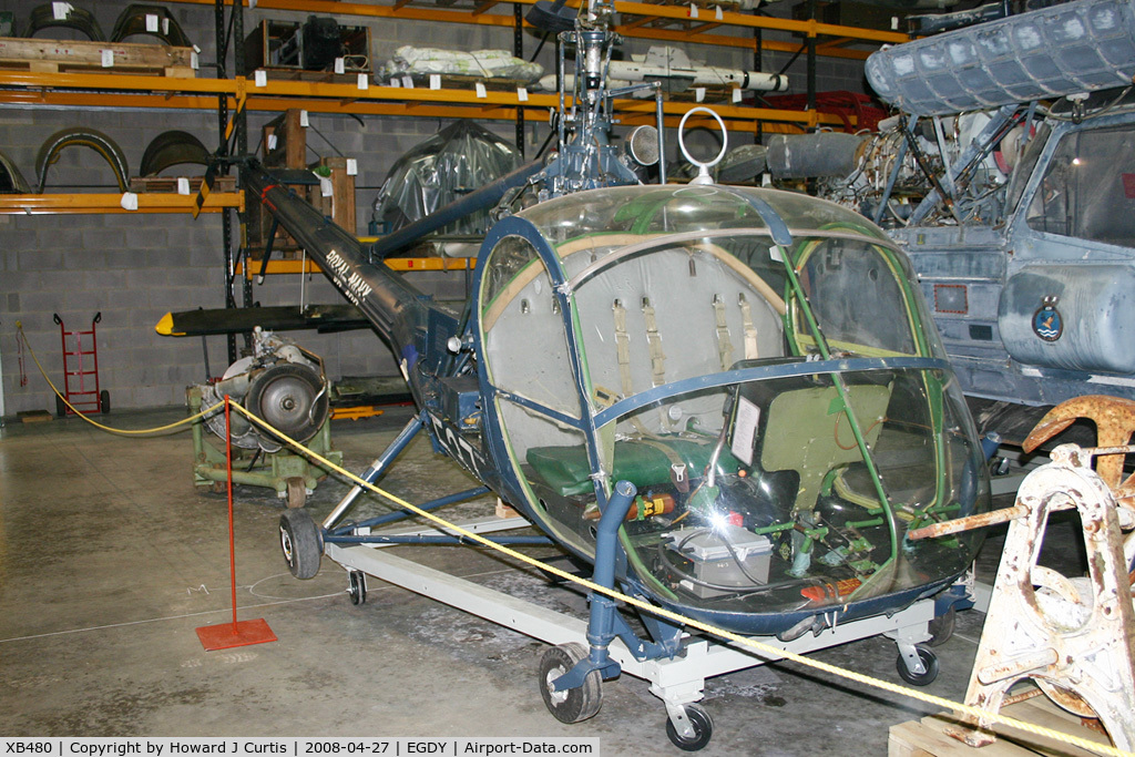
[[[884,48],[875,93],[916,116],[980,110],[1132,83],[1135,6],[1079,0]]]

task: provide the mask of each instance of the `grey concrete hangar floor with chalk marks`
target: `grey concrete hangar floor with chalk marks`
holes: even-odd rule
[[[407,413],[337,421],[333,438],[347,466],[362,470]],[[182,414],[109,420],[144,428]],[[0,733],[598,737],[604,755],[682,754],[640,680],[605,683],[599,714],[564,725],[537,689],[543,644],[375,580],[369,602],[353,606],[343,570],[326,560],[314,579],[294,580],[277,539],[283,501],[267,489],[237,488],[237,598],[241,619],[263,617],[279,640],[203,651],[194,629],[230,619],[227,508],[222,496],[194,490],[191,457],[185,432],[123,438],[78,419],[0,431]],[[382,483],[415,502],[471,486],[423,438]],[[309,503],[317,519],[344,490],[320,485]],[[485,498],[449,515],[491,508]],[[398,549],[548,606],[586,607],[578,594],[477,549]],[[959,615],[927,691],[964,695],[982,619]],[[894,645],[883,638],[816,657],[899,681]],[[701,754],[770,757],[884,755],[890,725],[928,712],[792,663],[711,680],[705,706],[715,730]]]

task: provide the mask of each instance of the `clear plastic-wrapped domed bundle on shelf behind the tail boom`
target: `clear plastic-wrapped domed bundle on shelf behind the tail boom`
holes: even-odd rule
[[[519,168],[520,153],[470,120],[455,121],[402,155],[375,200],[375,220],[389,233]],[[472,213],[443,234],[481,235],[488,211]]]

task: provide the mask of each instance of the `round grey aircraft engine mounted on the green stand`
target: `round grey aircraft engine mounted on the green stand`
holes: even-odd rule
[[[322,361],[294,342],[259,327],[252,335],[252,354],[228,367],[216,384],[201,386],[202,404],[224,402],[227,395],[281,434],[306,441],[327,421],[330,405]],[[225,415],[205,421],[209,430],[225,438]],[[245,449],[278,452],[284,440],[230,413],[233,445]]]

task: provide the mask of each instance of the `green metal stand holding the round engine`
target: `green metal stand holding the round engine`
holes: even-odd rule
[[[191,386],[185,392],[190,414],[201,412],[201,388]],[[224,448],[205,440],[208,431],[204,422],[193,423],[193,485],[224,491],[228,471]],[[308,441],[308,448],[322,455],[336,465],[343,463],[343,453],[331,448],[330,418],[323,421],[319,431]],[[260,453],[259,456],[257,453]],[[327,478],[327,471],[309,462],[286,447],[279,452],[261,452],[233,447],[233,482],[276,489],[276,494],[287,499],[288,507],[303,507],[308,495],[316,485]]]

